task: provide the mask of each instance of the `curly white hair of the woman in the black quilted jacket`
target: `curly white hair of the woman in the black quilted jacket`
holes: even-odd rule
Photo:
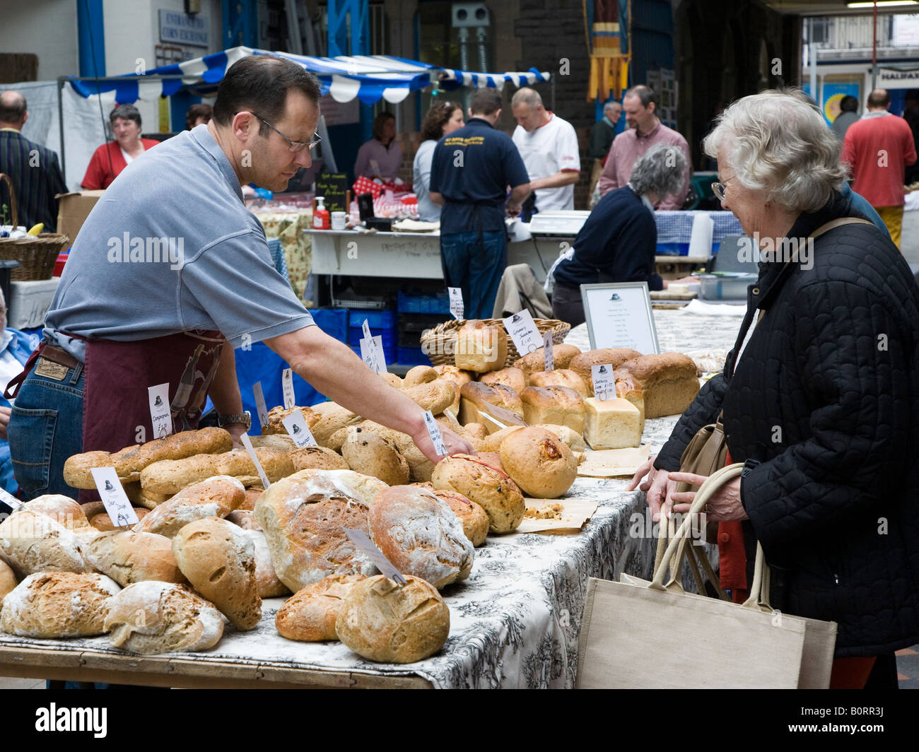
[[[721,113],[702,148],[724,158],[744,188],[791,211],[817,211],[842,188],[840,142],[800,89],[768,89]]]

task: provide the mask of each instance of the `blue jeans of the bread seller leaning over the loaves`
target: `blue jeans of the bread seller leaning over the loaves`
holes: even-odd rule
[[[63,482],[63,463],[83,451],[83,364],[61,381],[33,369],[19,388],[9,418],[9,450],[23,496],[77,491]],[[118,405],[112,405],[118,409]]]

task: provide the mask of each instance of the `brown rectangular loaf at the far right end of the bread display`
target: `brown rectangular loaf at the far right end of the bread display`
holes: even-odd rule
[[[620,364],[616,370],[616,393],[626,399],[632,394],[641,395],[645,418],[686,412],[698,388],[695,362],[678,352],[642,355]]]

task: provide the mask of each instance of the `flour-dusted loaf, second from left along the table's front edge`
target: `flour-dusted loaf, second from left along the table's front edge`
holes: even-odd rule
[[[148,580],[109,600],[105,630],[111,644],[130,653],[197,652],[220,641],[223,618],[186,587]]]

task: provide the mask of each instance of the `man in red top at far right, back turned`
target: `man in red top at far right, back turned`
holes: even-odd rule
[[[887,111],[891,95],[875,89],[868,112],[845,131],[842,161],[852,168],[852,189],[868,199],[900,247],[903,224],[903,177],[916,161],[913,132],[906,120]]]

